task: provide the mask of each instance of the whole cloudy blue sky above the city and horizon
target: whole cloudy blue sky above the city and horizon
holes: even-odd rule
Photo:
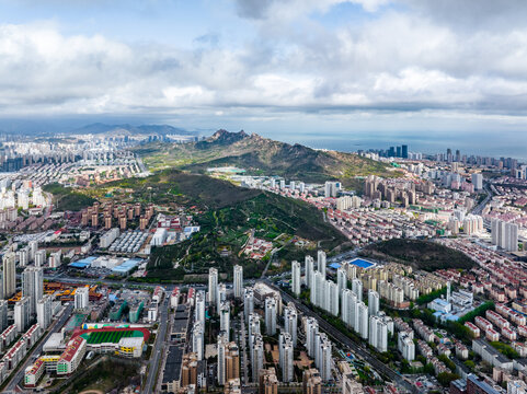
[[[524,134],[525,15],[525,0],[0,0],[0,118]]]

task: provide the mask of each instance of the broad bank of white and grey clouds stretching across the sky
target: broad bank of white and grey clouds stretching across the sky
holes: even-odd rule
[[[179,48],[0,25],[0,114],[527,115],[527,26],[469,28],[448,16],[469,13],[458,2],[402,1],[347,0],[375,18],[328,26],[310,13],[343,0],[240,0],[254,34],[236,48],[215,32]],[[474,12],[513,13],[494,3]]]

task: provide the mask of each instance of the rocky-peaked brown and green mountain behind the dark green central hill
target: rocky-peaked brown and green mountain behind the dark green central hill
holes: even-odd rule
[[[207,167],[233,165],[249,174],[280,175],[287,179],[354,184],[356,176],[398,176],[380,162],[357,154],[320,151],[289,144],[243,131],[218,130],[210,138],[191,143],[150,143],[136,152],[151,169],[177,167],[204,173]]]

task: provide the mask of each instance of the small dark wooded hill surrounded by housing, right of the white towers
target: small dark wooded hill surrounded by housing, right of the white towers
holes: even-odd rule
[[[474,262],[447,246],[432,241],[394,239],[368,245],[363,255],[377,259],[409,264],[416,269],[470,269]]]

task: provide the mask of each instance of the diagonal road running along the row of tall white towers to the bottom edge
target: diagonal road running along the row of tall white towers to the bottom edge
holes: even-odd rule
[[[287,302],[294,302],[295,305],[299,311],[303,313],[306,316],[311,316],[317,318],[319,322],[319,327],[322,328],[324,332],[326,332],[329,335],[331,335],[334,339],[336,339],[339,343],[342,345],[346,346],[350,348],[355,355],[370,363],[377,371],[381,372],[385,374],[387,378],[396,382],[399,386],[403,387],[404,390],[408,390],[412,393],[419,393],[417,387],[414,385],[410,384],[408,381],[405,381],[399,373],[393,371],[391,368],[389,368],[387,364],[380,362],[375,356],[373,356],[366,348],[357,345],[354,343],[351,338],[348,338],[346,335],[341,333],[339,329],[333,327],[330,323],[324,321],[322,317],[320,317],[317,313],[311,311],[308,306],[302,304],[299,300],[290,297],[288,293],[283,291],[280,288],[274,286],[273,282],[271,282],[268,279],[264,279],[264,282],[266,285],[271,286],[272,288],[278,290],[282,294],[282,298],[284,301]]]

